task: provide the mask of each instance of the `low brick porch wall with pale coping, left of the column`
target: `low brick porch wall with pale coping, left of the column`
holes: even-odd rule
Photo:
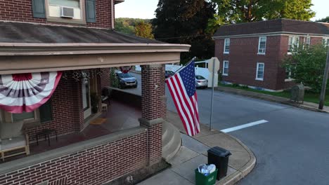
[[[142,132],[0,175],[1,185],[104,184],[146,166],[147,135]]]

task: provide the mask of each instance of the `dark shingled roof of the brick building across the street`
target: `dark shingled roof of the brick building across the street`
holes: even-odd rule
[[[259,22],[247,22],[224,25],[217,29],[214,37],[246,34],[264,34],[272,32],[290,32],[302,34],[329,35],[329,24],[300,20],[276,19]]]

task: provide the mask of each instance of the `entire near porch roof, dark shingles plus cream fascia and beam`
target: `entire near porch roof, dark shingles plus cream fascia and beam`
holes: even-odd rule
[[[0,74],[167,64],[190,47],[111,29],[0,22]]]

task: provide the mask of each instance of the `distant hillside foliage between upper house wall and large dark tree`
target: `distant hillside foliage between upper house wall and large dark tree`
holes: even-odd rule
[[[138,22],[150,22],[150,20],[134,18],[115,18],[115,30],[126,34],[135,34],[135,27]]]

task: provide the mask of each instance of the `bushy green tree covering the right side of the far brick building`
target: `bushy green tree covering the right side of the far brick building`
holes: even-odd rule
[[[311,87],[312,92],[319,93],[327,49],[323,45],[310,46],[309,49],[299,47],[292,52],[292,55],[285,57],[283,67],[290,69],[291,78],[294,78],[296,83],[303,83]]]

